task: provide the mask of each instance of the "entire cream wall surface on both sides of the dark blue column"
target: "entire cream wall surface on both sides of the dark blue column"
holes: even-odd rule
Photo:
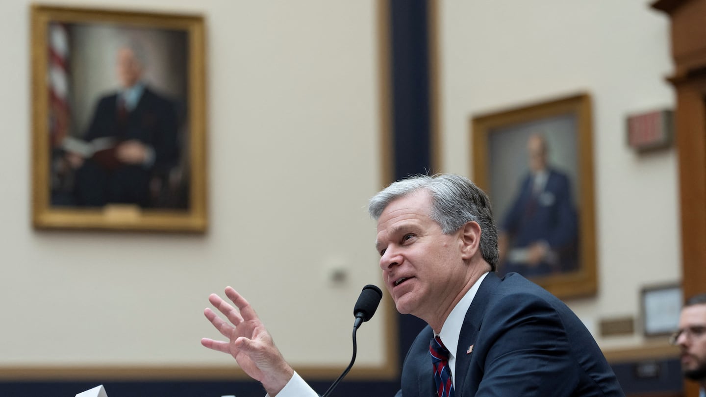
[[[364,211],[382,183],[373,1],[60,4],[205,16],[210,230],[32,230],[30,1],[4,2],[0,366],[229,363],[198,343],[216,336],[201,312],[225,285],[249,297],[295,365],[345,364],[352,304],[381,284]],[[628,112],[674,106],[667,22],[647,4],[440,1],[445,171],[469,173],[470,115],[593,97],[599,295],[569,302],[591,328],[637,316],[643,285],[681,277],[676,153],[625,144]],[[337,267],[349,280],[333,286],[325,274]],[[383,328],[361,328],[357,365],[383,360]],[[301,338],[323,346],[305,352]]]

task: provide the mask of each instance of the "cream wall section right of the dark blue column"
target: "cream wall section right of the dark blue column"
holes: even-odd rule
[[[469,118],[592,95],[599,293],[569,306],[602,348],[602,318],[640,315],[640,289],[681,279],[676,151],[638,155],[625,118],[674,108],[669,24],[651,1],[439,1],[443,168],[469,172]],[[640,333],[640,328],[636,330]]]

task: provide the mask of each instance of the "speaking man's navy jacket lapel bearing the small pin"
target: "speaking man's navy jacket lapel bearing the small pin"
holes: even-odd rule
[[[471,302],[468,312],[466,312],[466,317],[463,320],[461,333],[458,338],[458,348],[456,349],[456,380],[454,381],[457,388],[456,396],[462,396],[462,394],[460,394],[462,390],[459,388],[463,387],[473,354],[472,352],[467,354],[467,351],[471,345],[475,344],[485,309],[488,306],[493,290],[496,289],[496,286],[500,284],[500,282],[501,279],[498,278],[496,273],[488,273],[478,288],[476,296],[473,297],[473,302]]]

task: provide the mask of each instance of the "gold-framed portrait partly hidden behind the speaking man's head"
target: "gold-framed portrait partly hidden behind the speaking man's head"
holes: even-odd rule
[[[498,224],[500,273],[562,298],[597,290],[587,94],[471,119],[474,181]]]

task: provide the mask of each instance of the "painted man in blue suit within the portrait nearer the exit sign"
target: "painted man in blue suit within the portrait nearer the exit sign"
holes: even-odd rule
[[[530,172],[501,223],[503,273],[549,275],[578,268],[578,225],[566,174],[549,167],[547,143],[527,140]]]

